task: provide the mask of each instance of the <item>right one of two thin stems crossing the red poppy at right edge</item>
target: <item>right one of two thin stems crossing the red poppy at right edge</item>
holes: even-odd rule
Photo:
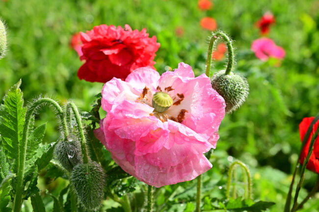
[[[296,192],[294,194],[294,198],[293,198],[293,205],[292,205],[292,212],[296,211],[297,206],[298,206],[298,195],[299,195],[299,191],[302,187],[303,181],[305,179],[305,170],[307,167],[307,164],[309,162],[310,156],[314,150],[314,144],[315,144],[315,140],[318,137],[318,133],[319,133],[319,127],[317,128],[316,132],[314,133],[314,135],[311,138],[310,144],[309,144],[309,149],[308,149],[308,154],[306,159],[303,161],[302,164],[302,168],[301,168],[301,172],[300,172],[300,179],[299,179],[299,183],[297,184],[296,187]]]

